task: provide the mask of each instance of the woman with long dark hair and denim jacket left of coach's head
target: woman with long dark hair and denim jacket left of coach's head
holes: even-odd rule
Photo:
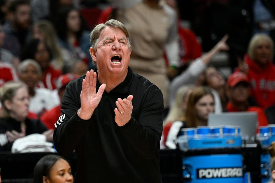
[[[85,31],[85,23],[79,11],[72,8],[60,9],[54,22],[60,45],[72,54],[73,59],[84,61],[92,67],[89,33]]]

